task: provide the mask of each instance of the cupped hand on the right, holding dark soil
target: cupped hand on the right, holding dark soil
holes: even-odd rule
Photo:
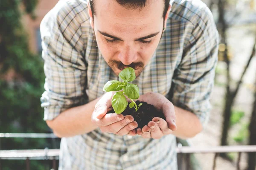
[[[131,130],[129,135],[137,133],[143,138],[160,139],[162,136],[169,135],[177,130],[174,105],[165,96],[159,93],[149,92],[141,95],[138,100],[154,105],[158,111],[163,112],[166,120],[160,117],[154,117],[152,121],[148,122],[148,125],[145,125],[142,129]]]

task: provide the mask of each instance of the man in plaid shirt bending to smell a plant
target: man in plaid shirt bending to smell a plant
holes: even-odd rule
[[[60,170],[177,170],[175,137],[209,118],[218,32],[198,0],[60,0],[41,23],[44,120],[61,137]],[[163,111],[142,129],[106,114],[126,67],[140,101]]]

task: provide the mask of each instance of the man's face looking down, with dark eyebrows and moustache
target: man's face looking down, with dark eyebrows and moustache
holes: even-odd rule
[[[163,0],[150,0],[141,10],[126,9],[116,0],[94,0],[92,27],[103,58],[116,75],[148,64],[163,31]],[[90,12],[89,12],[90,13]]]

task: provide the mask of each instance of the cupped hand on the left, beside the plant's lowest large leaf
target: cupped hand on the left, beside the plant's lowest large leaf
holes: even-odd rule
[[[116,135],[136,135],[130,132],[138,127],[137,122],[131,115],[123,116],[122,114],[108,113],[112,110],[111,99],[115,92],[107,92],[96,103],[91,121],[96,124],[102,132],[114,133]]]

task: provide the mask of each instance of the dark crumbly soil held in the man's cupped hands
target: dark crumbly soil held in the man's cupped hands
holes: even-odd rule
[[[127,105],[127,108],[125,109],[125,111],[122,112],[122,115],[126,116],[126,115],[131,115],[134,117],[134,121],[136,121],[138,123],[138,127],[137,128],[143,128],[145,125],[148,125],[148,122],[152,121],[152,119],[154,117],[160,117],[162,119],[165,120],[165,117],[163,115],[162,112],[157,111],[156,108],[154,108],[153,105],[150,105],[146,102],[140,102],[140,101],[136,101],[137,106],[143,103],[143,105],[140,106],[140,108],[138,109],[138,111],[135,111],[135,108],[130,108],[129,104]],[[112,110],[109,113],[114,113],[114,111]]]

